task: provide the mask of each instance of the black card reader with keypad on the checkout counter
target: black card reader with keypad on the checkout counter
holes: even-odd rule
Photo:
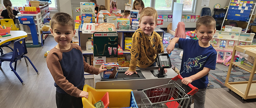
[[[160,71],[158,72],[158,70],[152,70],[150,72],[153,73],[153,75],[157,76],[158,78],[164,78],[165,76],[167,76],[164,73],[164,68],[172,67],[172,63],[171,63],[171,60],[170,60],[168,54],[167,53],[157,54],[155,61],[158,65],[158,67],[160,67]]]

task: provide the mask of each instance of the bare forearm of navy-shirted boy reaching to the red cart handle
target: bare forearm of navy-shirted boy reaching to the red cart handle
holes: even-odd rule
[[[204,77],[205,75],[207,75],[210,72],[210,70],[211,70],[210,68],[204,67],[202,71],[200,71],[194,75],[191,75],[190,77],[183,78],[181,80],[181,82],[185,85],[188,85],[192,81],[198,80],[198,79]]]

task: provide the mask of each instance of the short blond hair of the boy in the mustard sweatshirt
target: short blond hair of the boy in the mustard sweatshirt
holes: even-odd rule
[[[146,7],[144,9],[142,9],[142,11],[140,12],[140,22],[141,22],[141,18],[144,16],[153,16],[153,18],[155,18],[155,23],[157,24],[157,11],[152,8],[152,7]]]

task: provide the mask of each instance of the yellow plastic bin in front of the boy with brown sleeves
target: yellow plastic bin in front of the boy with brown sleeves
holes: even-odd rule
[[[82,97],[84,108],[95,108],[94,104],[98,102],[106,92],[108,92],[109,95],[109,108],[138,108],[131,89],[94,89],[86,84],[84,85],[83,91],[89,93],[88,99]]]

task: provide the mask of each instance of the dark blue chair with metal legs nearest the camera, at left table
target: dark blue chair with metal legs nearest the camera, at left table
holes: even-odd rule
[[[33,66],[33,68],[36,70],[36,73],[38,73],[36,67],[33,65],[33,63],[31,62],[31,60],[25,56],[24,54],[27,54],[27,47],[25,44],[25,38],[21,38],[17,41],[14,42],[13,45],[13,52],[9,52],[6,54],[3,54],[0,56],[0,64],[4,61],[10,61],[10,67],[12,69],[12,71],[15,73],[15,75],[18,77],[18,79],[20,80],[21,84],[24,85],[24,82],[21,80],[20,76],[18,75],[18,73],[16,72],[16,67],[17,67],[17,61],[21,58],[27,58],[28,61],[30,62],[30,64]],[[12,63],[15,62],[14,68],[12,67]]]

